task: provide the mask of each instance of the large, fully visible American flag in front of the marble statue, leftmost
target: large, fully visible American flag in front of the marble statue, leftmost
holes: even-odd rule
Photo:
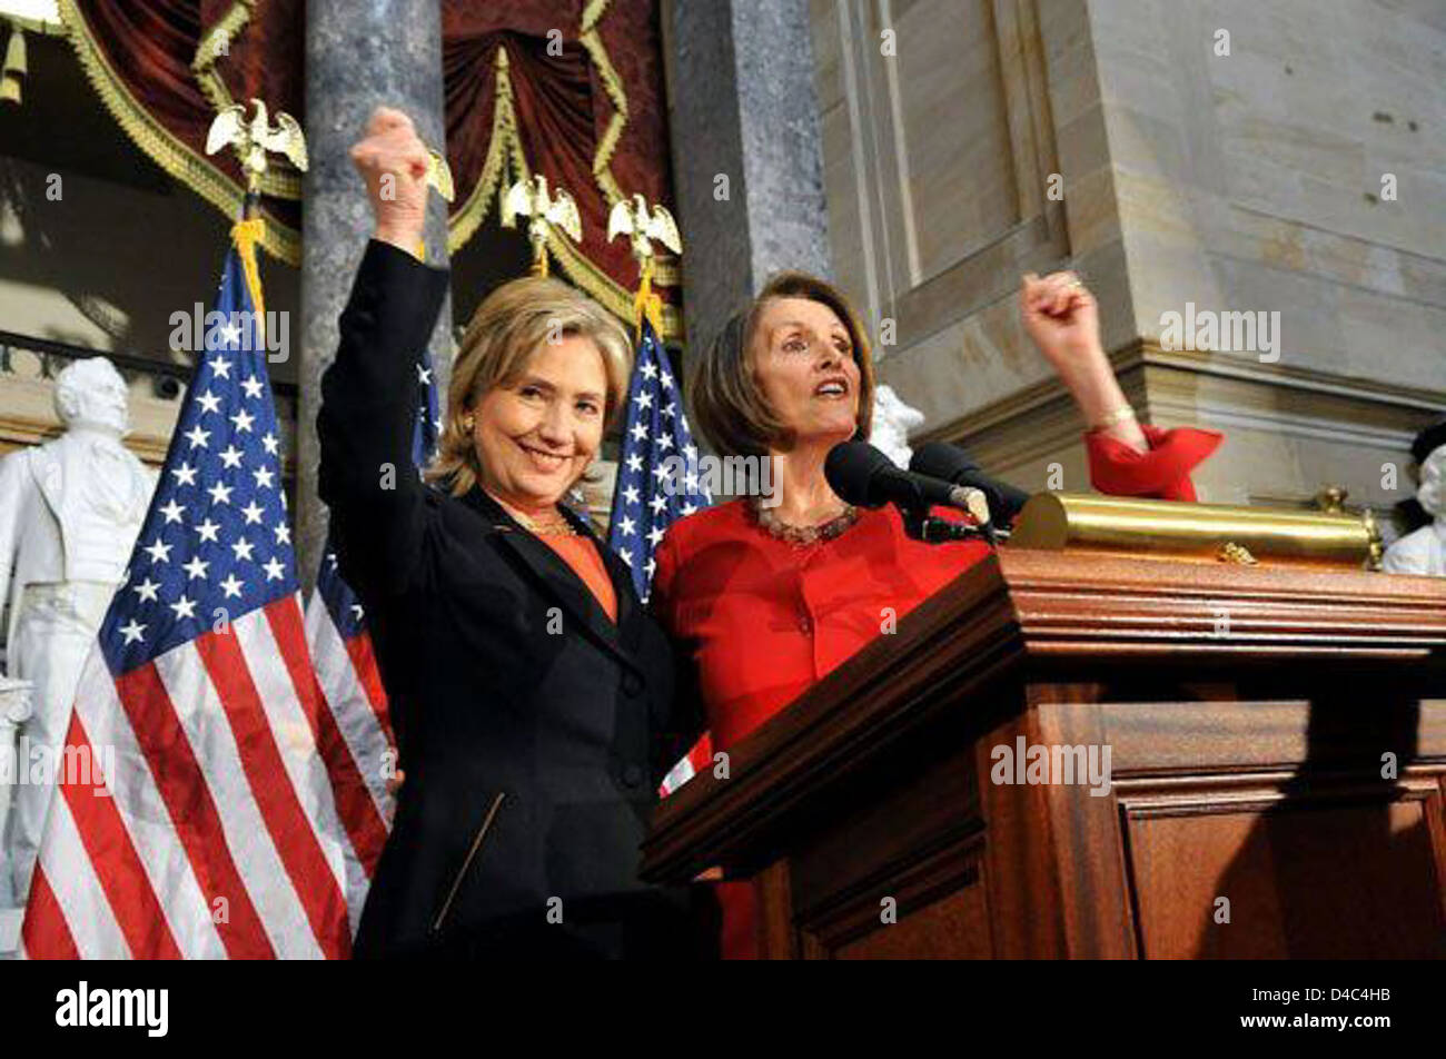
[[[240,240],[259,223],[237,226],[247,259],[231,247],[215,301],[228,323],[208,328],[81,676],[65,754],[91,768],[61,778],[46,819],[30,958],[350,950],[333,787],[357,777],[318,707],[265,346],[237,315],[260,301]]]

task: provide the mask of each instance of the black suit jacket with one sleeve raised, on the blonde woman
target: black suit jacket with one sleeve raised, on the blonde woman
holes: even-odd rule
[[[675,696],[665,634],[583,519],[568,512],[607,564],[616,625],[482,489],[453,498],[414,472],[418,356],[445,289],[372,242],[321,383],[321,496],[406,771],[356,955],[675,955],[685,894],[636,869],[697,697]]]

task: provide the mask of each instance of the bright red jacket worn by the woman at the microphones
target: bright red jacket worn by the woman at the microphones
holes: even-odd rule
[[[1095,488],[1193,501],[1190,469],[1220,435],[1144,430],[1147,453],[1084,435]],[[986,554],[982,541],[908,538],[892,506],[803,548],[758,527],[743,501],[674,522],[655,553],[652,608],[697,667],[711,733],[701,757],[726,751]],[[720,898],[724,955],[753,955],[750,885],[724,884]]]

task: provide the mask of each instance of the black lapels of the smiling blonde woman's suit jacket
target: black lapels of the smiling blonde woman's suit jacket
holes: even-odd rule
[[[617,655],[619,660],[638,667],[633,658],[638,650],[641,628],[641,605],[633,593],[632,577],[622,560],[613,556],[612,548],[599,540],[591,524],[565,503],[558,505],[564,518],[573,524],[578,534],[593,541],[603,557],[603,567],[613,583],[613,595],[617,599],[617,622],[607,616],[597,597],[593,596],[583,579],[578,577],[561,556],[549,548],[544,541],[523,530],[522,525],[508,514],[506,508],[487,495],[482,486],[474,486],[471,492],[461,498],[479,515],[486,518],[502,545],[522,560],[523,569],[532,576],[538,586],[555,599],[567,612],[567,621],[578,624],[593,639]]]

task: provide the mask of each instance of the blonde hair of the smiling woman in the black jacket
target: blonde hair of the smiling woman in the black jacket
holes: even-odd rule
[[[632,373],[628,331],[607,310],[558,279],[513,279],[483,299],[463,334],[428,482],[445,486],[453,496],[471,492],[482,477],[482,462],[467,415],[484,394],[519,379],[542,343],[567,336],[591,339],[602,353],[607,375],[604,430],[612,425]]]

